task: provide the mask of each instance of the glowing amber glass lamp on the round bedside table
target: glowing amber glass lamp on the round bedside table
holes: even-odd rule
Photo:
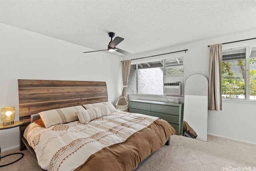
[[[3,125],[12,125],[15,119],[15,107],[3,107],[2,108],[2,121]]]

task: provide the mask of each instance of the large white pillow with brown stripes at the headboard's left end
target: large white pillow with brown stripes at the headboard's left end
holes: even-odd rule
[[[78,120],[78,117],[74,115],[75,111],[82,110],[84,107],[72,106],[72,107],[64,107],[60,109],[52,109],[47,111],[42,111],[38,113],[40,115],[42,121],[46,128],[57,125],[61,123],[68,123],[72,121]]]

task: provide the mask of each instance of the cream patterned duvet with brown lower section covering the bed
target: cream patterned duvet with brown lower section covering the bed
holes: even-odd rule
[[[156,123],[158,120],[162,123]],[[150,127],[159,130],[154,131]],[[166,131],[163,129],[166,129]],[[145,140],[147,144],[156,141],[156,145],[150,145],[152,147],[149,150],[141,142],[144,141],[144,137],[140,133],[145,131],[149,135],[146,138],[148,140]],[[162,135],[157,135],[157,131],[161,132]],[[159,149],[164,145],[166,139],[175,133],[175,130],[168,122],[157,117],[117,111],[112,115],[90,121],[87,125],[81,124],[79,121],[73,121],[43,128],[36,123],[31,123],[24,131],[24,137],[34,149],[38,164],[45,170],[73,171],[75,169],[92,170],[92,168],[97,168],[97,170],[133,170],[140,161]],[[137,136],[135,139],[138,142],[132,139],[134,136]],[[132,151],[134,145],[131,147],[129,146],[130,143],[128,146],[123,146],[121,150],[116,151],[121,147],[120,145],[128,143],[128,140],[132,140],[134,145],[142,143],[140,149],[135,151],[146,151],[146,153],[132,154],[131,157],[128,157],[131,158],[131,161],[129,161],[130,159],[121,159],[120,156],[116,156],[115,154],[118,153],[126,153],[122,150]],[[146,147],[146,150],[142,149],[143,147]],[[113,149],[115,151],[114,154]],[[102,151],[106,153],[104,154]],[[99,158],[94,157],[97,155]],[[105,160],[107,163],[100,165],[104,163],[101,160]],[[127,163],[122,160],[127,161]],[[108,161],[112,161],[109,166]],[[97,167],[94,166],[95,162],[97,162]],[[117,167],[114,168],[112,167],[113,165]],[[88,168],[86,169],[86,167]]]

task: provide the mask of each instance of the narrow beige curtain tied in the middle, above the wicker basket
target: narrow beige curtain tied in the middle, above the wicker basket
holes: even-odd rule
[[[131,60],[122,61],[122,76],[123,76],[123,92],[122,96],[128,97],[127,93],[127,83],[128,83],[128,77],[130,74],[130,68],[131,68]]]

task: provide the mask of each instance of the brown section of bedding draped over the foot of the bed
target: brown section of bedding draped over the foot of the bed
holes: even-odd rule
[[[173,134],[176,131],[167,121],[157,119],[124,143],[94,153],[76,171],[132,171],[148,155],[160,149]]]

